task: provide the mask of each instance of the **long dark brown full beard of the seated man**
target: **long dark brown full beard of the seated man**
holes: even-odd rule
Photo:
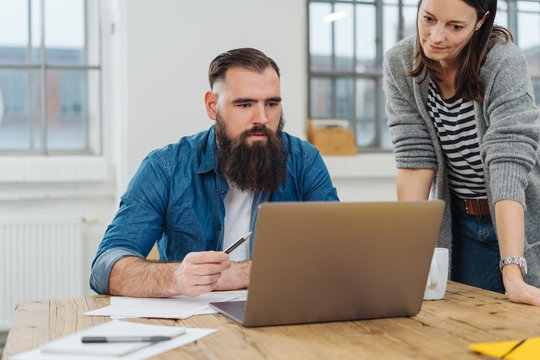
[[[218,141],[219,171],[242,191],[274,191],[287,179],[287,151],[283,148],[283,117],[276,132],[264,125],[244,131],[229,139],[226,126],[216,114],[216,139]],[[264,133],[265,141],[248,144],[253,133]]]

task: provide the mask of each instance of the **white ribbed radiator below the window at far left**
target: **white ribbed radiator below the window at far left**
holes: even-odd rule
[[[23,300],[84,293],[81,216],[0,215],[0,330]]]

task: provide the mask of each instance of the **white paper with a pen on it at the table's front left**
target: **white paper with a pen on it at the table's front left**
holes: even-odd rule
[[[126,325],[127,324],[127,325]],[[146,335],[168,334],[173,335],[179,331],[185,331],[183,335],[173,337],[171,340],[162,341],[151,344],[83,344],[81,342],[82,336],[100,336],[103,334],[114,333],[116,335],[136,335],[141,334],[144,331]],[[146,359],[162,352],[177,348],[189,344],[190,342],[199,340],[211,333],[216,329],[194,329],[194,328],[179,328],[174,326],[160,326],[160,325],[148,325],[113,320],[105,324],[94,326],[77,333],[65,336],[60,339],[51,341],[50,343],[42,345],[43,349],[54,350],[57,352],[43,351],[42,349],[35,349],[12,357],[13,360],[90,360],[99,358],[101,360],[140,360]],[[108,351],[107,346],[110,346]],[[140,349],[130,350],[128,354],[124,356],[115,356],[117,353],[116,346],[143,346]],[[101,350],[98,350],[100,348]],[[59,352],[58,352],[59,351]],[[70,352],[70,353],[60,353]],[[76,354],[83,352],[84,354]],[[96,355],[100,353],[100,355]]]

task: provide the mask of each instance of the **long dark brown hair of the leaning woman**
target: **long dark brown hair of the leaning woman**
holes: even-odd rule
[[[484,89],[480,81],[480,67],[486,61],[486,55],[489,50],[500,39],[504,41],[513,41],[512,34],[508,29],[494,25],[495,15],[497,14],[497,0],[463,0],[476,10],[476,19],[480,21],[489,11],[488,18],[484,24],[474,31],[471,39],[461,50],[460,65],[456,72],[455,87],[456,95],[465,100],[484,100]],[[429,59],[422,50],[420,44],[420,35],[418,32],[418,14],[420,13],[422,0],[418,2],[418,13],[416,20],[416,66],[410,72],[413,77],[421,76],[418,84],[424,82],[430,75],[434,80],[441,80],[442,68],[438,61]],[[426,70],[424,72],[424,70]],[[422,75],[423,73],[423,75]]]

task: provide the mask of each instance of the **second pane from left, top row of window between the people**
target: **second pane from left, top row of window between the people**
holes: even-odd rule
[[[336,70],[352,71],[354,56],[353,6],[336,4],[335,13],[343,16],[343,18],[334,21]]]

